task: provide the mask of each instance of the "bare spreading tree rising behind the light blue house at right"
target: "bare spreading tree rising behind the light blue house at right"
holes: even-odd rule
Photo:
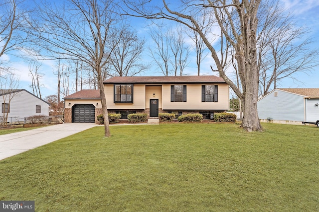
[[[257,37],[259,92],[266,95],[295,72],[312,71],[319,66],[319,52],[311,48],[309,30],[297,27],[290,13],[285,13],[280,2],[265,1],[258,13]]]

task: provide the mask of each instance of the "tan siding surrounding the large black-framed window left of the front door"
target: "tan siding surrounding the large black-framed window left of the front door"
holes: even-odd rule
[[[132,103],[114,103],[114,85],[105,84],[104,93],[106,104],[110,110],[145,110],[145,85],[134,84],[133,86],[133,104]]]

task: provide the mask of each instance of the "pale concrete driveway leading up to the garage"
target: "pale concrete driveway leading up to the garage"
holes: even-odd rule
[[[95,126],[99,125],[95,123],[59,124],[2,135],[0,136],[0,160]]]

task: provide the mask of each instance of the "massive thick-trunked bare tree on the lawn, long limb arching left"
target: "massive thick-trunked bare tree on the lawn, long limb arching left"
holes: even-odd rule
[[[162,0],[162,6],[147,11],[149,0],[125,1],[130,9],[128,15],[144,17],[148,19],[168,19],[179,22],[199,33],[205,45],[211,52],[219,75],[230,85],[236,95],[241,99],[244,108],[244,118],[241,127],[247,131],[262,130],[257,113],[258,100],[258,69],[257,69],[257,12],[261,0],[203,0],[193,3],[190,0],[181,0],[178,11],[171,9],[170,5]],[[235,59],[238,65],[241,88],[236,85],[226,74],[217,53],[216,48],[211,45],[209,38],[202,32],[198,20],[194,14],[201,10],[213,13],[222,36],[235,50]],[[224,57],[228,52],[224,54]]]

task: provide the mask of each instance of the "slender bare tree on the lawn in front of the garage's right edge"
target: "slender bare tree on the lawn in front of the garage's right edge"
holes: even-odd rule
[[[69,0],[56,7],[38,5],[37,11],[34,18],[41,25],[30,22],[31,33],[43,41],[41,46],[52,58],[78,60],[91,67],[98,80],[105,136],[110,137],[102,70],[116,47],[110,42],[118,19],[116,4],[113,0]]]

